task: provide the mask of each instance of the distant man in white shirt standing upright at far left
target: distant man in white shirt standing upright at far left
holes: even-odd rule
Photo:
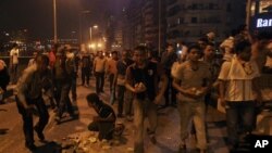
[[[18,48],[14,43],[10,52],[10,71],[11,71],[11,82],[16,82],[17,77],[17,65],[18,65]]]

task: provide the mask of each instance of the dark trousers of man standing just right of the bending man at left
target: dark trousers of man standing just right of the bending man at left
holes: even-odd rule
[[[57,97],[58,97],[57,100],[59,100],[57,116],[61,118],[65,109],[67,109],[66,111],[70,115],[74,115],[73,105],[69,97],[69,92],[71,89],[71,81],[59,80],[55,82],[55,87],[57,87]]]

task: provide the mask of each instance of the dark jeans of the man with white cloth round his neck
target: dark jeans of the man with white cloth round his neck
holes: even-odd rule
[[[226,125],[228,145],[234,146],[239,140],[239,129],[242,133],[251,132],[255,124],[255,102],[226,102]]]

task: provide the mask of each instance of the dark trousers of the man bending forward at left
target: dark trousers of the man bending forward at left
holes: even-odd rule
[[[33,144],[34,143],[33,110],[26,110],[18,101],[17,97],[15,97],[15,99],[18,113],[22,115],[23,118],[25,143]],[[36,106],[39,114],[39,122],[35,125],[35,128],[38,131],[42,131],[46,125],[48,124],[48,118],[49,118],[49,114],[42,98],[40,97],[38,99],[27,99],[27,102]]]

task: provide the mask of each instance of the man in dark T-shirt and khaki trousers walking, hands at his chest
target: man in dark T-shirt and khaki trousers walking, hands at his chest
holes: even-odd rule
[[[144,153],[144,120],[147,115],[150,127],[147,129],[152,143],[156,143],[157,104],[162,100],[168,86],[166,75],[158,63],[147,60],[146,50],[137,47],[134,51],[135,63],[127,67],[125,87],[134,93],[134,152]],[[162,84],[158,89],[159,78]]]

